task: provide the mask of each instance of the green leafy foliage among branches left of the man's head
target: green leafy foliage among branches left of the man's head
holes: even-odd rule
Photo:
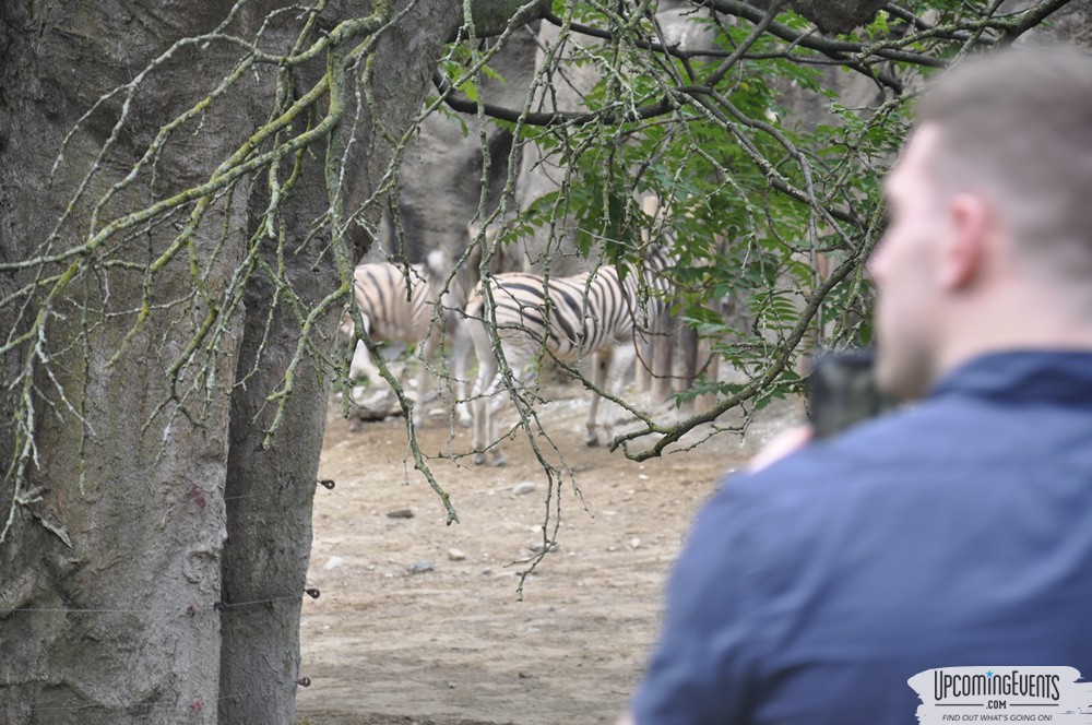
[[[655,4],[554,0],[544,22],[555,32],[539,34],[539,90],[492,122],[536,146],[563,179],[500,239],[519,243],[538,230],[557,241],[567,219],[579,253],[603,249],[631,263],[648,239],[667,239],[675,311],[739,373],[699,377],[678,402],[713,393],[719,414],[799,392],[798,362],[814,346],[870,342],[864,265],[882,233],[880,181],[910,128],[915,90],[1057,4],[1016,14],[998,14],[998,3],[892,4],[829,37],[778,12],[784,5],[710,0],[675,12],[690,38],[680,44]],[[590,70],[594,83],[572,99],[581,87],[572,79]],[[485,110],[488,99],[467,95]],[[648,195],[661,202],[655,218],[640,212]]]

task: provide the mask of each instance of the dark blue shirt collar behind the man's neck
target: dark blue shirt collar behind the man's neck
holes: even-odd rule
[[[1010,402],[1092,404],[1092,350],[1014,350],[971,359],[937,383],[949,394]]]

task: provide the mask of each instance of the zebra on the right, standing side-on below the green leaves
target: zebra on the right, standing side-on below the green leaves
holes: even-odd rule
[[[604,265],[570,277],[498,274],[489,280],[488,296],[480,286],[475,289],[466,304],[466,317],[479,321],[470,324],[478,359],[472,393],[475,463],[486,462],[487,450],[494,465],[506,463],[496,430],[495,416],[503,397],[498,395],[502,376],[489,332],[494,320],[500,352],[518,384],[522,384],[525,368],[545,356],[571,360],[593,355],[592,382],[617,396],[637,357],[634,337],[645,337],[650,322],[658,318],[664,306],[649,293],[650,288],[667,290],[662,272],[669,264],[663,249],[652,245],[641,273],[630,269],[625,280],[619,278],[616,268]],[[593,395],[585,424],[589,445],[600,442],[595,428],[598,404],[598,395]],[[612,409],[604,417],[607,441],[613,437],[615,414]]]

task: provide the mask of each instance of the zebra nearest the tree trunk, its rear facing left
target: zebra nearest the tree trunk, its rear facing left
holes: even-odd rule
[[[466,409],[466,356],[470,340],[465,325],[455,320],[459,290],[448,288],[451,264],[446,252],[435,250],[425,263],[403,266],[389,262],[359,264],[353,270],[354,297],[365,331],[375,342],[403,342],[420,345],[418,357],[424,365],[417,371],[414,387],[417,400],[414,419],[420,420],[425,403],[437,393],[426,395],[425,381],[428,366],[442,347],[444,334],[451,343],[451,373],[454,381],[456,416],[462,425],[470,425]],[[453,283],[458,287],[458,282]],[[465,298],[465,294],[462,295]],[[340,336],[355,337],[353,318],[346,310]],[[442,366],[447,367],[447,366]],[[372,362],[368,348],[357,341],[349,365],[349,378],[379,380],[379,369]]]

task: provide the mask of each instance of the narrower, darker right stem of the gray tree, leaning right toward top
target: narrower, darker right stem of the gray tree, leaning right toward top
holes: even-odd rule
[[[394,12],[405,4],[397,3]],[[349,157],[344,189],[347,210],[368,199],[382,181],[394,151],[384,139],[401,138],[408,130],[430,88],[443,43],[460,20],[458,9],[449,3],[418,2],[379,40],[371,93],[382,114],[378,121],[385,134],[377,132],[377,119],[364,106],[359,116],[342,122],[334,142],[335,148],[343,148],[352,133],[355,153]],[[308,163],[307,183],[292,202],[288,218],[293,236],[298,239],[307,237],[312,219],[329,203],[323,195],[321,161]],[[316,190],[321,192],[319,197]],[[371,225],[378,223],[379,209],[376,204],[369,213]],[[353,234],[353,229],[347,231]],[[320,235],[301,253],[284,259],[295,294],[310,305],[340,284],[328,240],[329,233]],[[274,259],[269,262],[276,264]],[[282,305],[270,316],[268,302],[273,295],[273,286],[262,277],[248,289],[238,379],[247,379],[256,367],[262,375],[236,387],[232,396],[229,534],[224,554],[226,608],[219,669],[219,722],[225,725],[292,723],[296,684],[306,676],[299,663],[299,614],[329,376],[310,362],[297,371],[296,390],[283,426],[273,444],[263,450],[265,430],[273,420],[268,399],[280,383],[300,335],[290,309]],[[340,312],[340,307],[331,311]],[[334,322],[328,316],[321,329],[332,332]],[[247,602],[269,603],[233,606]]]

